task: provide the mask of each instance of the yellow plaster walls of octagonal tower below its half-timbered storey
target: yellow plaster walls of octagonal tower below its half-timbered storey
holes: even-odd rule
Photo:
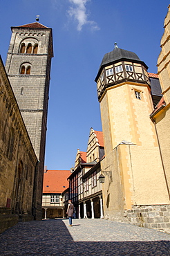
[[[140,91],[141,100],[135,98],[135,91]],[[149,86],[126,82],[110,87],[100,106],[105,217],[119,219],[132,205],[168,204],[155,126],[149,118],[153,111]],[[122,140],[134,145],[120,145]],[[113,181],[105,173],[109,170]]]

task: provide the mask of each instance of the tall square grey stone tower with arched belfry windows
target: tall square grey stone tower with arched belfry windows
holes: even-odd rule
[[[12,27],[6,72],[39,163],[35,172],[33,208],[41,218],[50,66],[53,57],[52,29],[35,22]]]

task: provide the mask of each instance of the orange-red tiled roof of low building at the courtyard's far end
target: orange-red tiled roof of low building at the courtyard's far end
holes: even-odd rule
[[[43,193],[62,193],[68,188],[70,171],[47,170],[44,172]]]

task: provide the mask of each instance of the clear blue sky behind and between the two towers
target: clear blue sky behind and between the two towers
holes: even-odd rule
[[[105,53],[135,52],[157,72],[168,0],[1,1],[0,54],[5,64],[10,26],[39,22],[53,28],[46,138],[48,170],[70,170],[77,149],[86,151],[91,127],[102,131],[94,82]]]

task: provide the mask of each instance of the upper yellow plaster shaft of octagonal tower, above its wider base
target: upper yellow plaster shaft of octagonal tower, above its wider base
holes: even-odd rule
[[[142,100],[135,98],[135,90],[140,91]],[[122,140],[149,147],[158,145],[154,125],[149,118],[153,105],[148,86],[123,83],[110,87],[100,104],[105,152]]]

